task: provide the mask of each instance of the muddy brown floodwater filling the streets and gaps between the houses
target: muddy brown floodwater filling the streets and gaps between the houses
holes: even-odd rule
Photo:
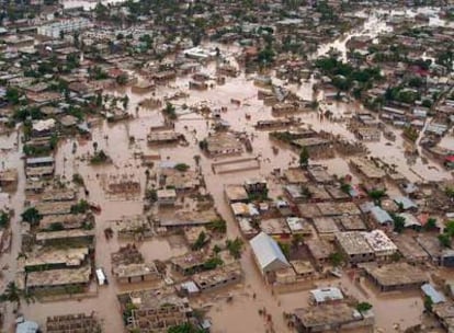
[[[80,4],[80,1],[67,1],[69,3]],[[88,2],[94,5],[94,2]],[[342,36],[338,41],[320,46],[318,55],[324,55],[329,51],[331,47],[339,49],[343,57],[345,57],[345,43],[352,36],[370,35],[376,37],[379,33],[389,31],[384,20],[378,14],[372,14],[367,18],[364,26],[354,31],[348,36]],[[223,49],[224,50],[224,49]],[[227,51],[232,51],[227,49]],[[237,65],[237,64],[234,64]],[[211,64],[204,71],[211,76],[215,73],[215,65]],[[68,138],[60,142],[56,158],[56,174],[60,179],[70,183],[73,174],[80,174],[89,191],[88,199],[98,203],[102,207],[102,213],[97,216],[97,266],[101,266],[107,272],[107,277],[112,280],[107,286],[97,287],[97,294],[92,298],[83,300],[65,300],[53,302],[32,302],[23,305],[21,311],[27,319],[36,320],[39,324],[44,324],[45,319],[49,314],[67,314],[78,312],[95,311],[103,320],[105,332],[122,332],[124,331],[122,315],[120,313],[120,306],[116,300],[116,295],[121,291],[126,291],[124,286],[120,286],[110,272],[111,253],[116,252],[121,245],[126,244],[126,241],[117,240],[114,237],[106,240],[104,230],[112,226],[112,220],[118,220],[132,216],[144,214],[144,194],[146,183],[147,168],[141,164],[141,161],[135,158],[135,151],[141,151],[145,154],[158,152],[162,161],[184,162],[191,166],[192,170],[196,168],[195,156],[201,156],[200,168],[204,175],[206,191],[211,193],[215,200],[215,207],[218,213],[226,219],[228,223],[227,234],[229,238],[240,236],[240,231],[231,216],[225,196],[224,186],[227,184],[238,184],[250,177],[262,176],[265,177],[271,187],[271,196],[277,197],[282,194],[282,188],[277,184],[277,180],[271,176],[271,172],[275,169],[286,169],[287,166],[297,165],[297,156],[291,149],[280,149],[275,154],[272,149],[272,143],[269,139],[268,131],[258,131],[254,129],[257,120],[273,119],[271,107],[263,105],[262,101],[258,100],[258,88],[253,84],[252,78],[240,74],[238,78],[230,78],[224,85],[216,85],[207,91],[189,91],[189,78],[179,78],[167,87],[158,87],[156,92],[148,92],[144,94],[136,94],[130,91],[130,88],[124,90],[107,91],[113,95],[127,94],[129,96],[128,113],[133,115],[133,119],[116,124],[107,124],[105,122],[98,122],[92,128],[92,140],[83,140],[78,138]],[[305,100],[313,100],[313,82],[304,83],[302,85],[288,85],[288,89],[294,91],[297,95]],[[227,112],[222,113],[222,118],[230,125],[230,129],[235,131],[243,131],[251,137],[253,151],[243,152],[241,157],[258,158],[261,162],[259,171],[243,171],[238,173],[227,173],[222,176],[214,174],[212,163],[218,159],[208,159],[204,156],[200,148],[198,141],[203,140],[207,133],[212,130],[213,119],[206,119],[195,113],[186,113],[181,115],[175,123],[175,131],[184,135],[189,146],[178,147],[159,147],[151,148],[147,145],[147,134],[151,125],[162,124],[163,117],[158,110],[148,110],[140,107],[139,103],[144,99],[163,99],[179,91],[189,92],[188,97],[180,99],[174,103],[177,107],[186,104],[189,106],[194,104],[207,103],[215,108],[227,108]],[[230,99],[241,101],[241,106],[231,104]],[[345,116],[347,111],[355,111],[355,104],[332,104],[327,106],[332,110],[334,115]],[[332,122],[322,119],[316,112],[305,112],[297,114],[302,123],[315,130],[325,130],[334,135],[340,135],[347,139],[354,139],[351,131],[347,129],[345,122]],[[398,133],[399,134],[399,133]],[[134,140],[132,140],[134,137]],[[88,163],[89,154],[95,150],[93,142],[97,142],[97,149],[103,150],[112,159],[112,164],[93,166]],[[389,146],[386,146],[389,143]],[[453,139],[446,138],[442,141],[445,147],[452,147]],[[429,161],[423,163],[418,159],[416,164],[408,165],[405,158],[406,142],[399,135],[395,142],[390,143],[385,139],[379,142],[367,142],[367,148],[371,153],[386,161],[389,164],[395,164],[397,170],[406,175],[410,181],[418,181],[422,177],[428,181],[440,181],[450,179],[451,175],[442,170],[435,163]],[[10,137],[2,137],[0,140],[2,168],[16,168],[20,171],[20,182],[18,191],[11,198],[5,198],[3,205],[13,208],[16,215],[12,221],[12,246],[11,254],[3,255],[0,260],[1,266],[8,268],[3,269],[2,284],[14,278],[16,271],[16,256],[20,252],[20,214],[24,207],[24,174],[22,148],[18,135]],[[76,147],[76,149],[75,149]],[[332,159],[325,159],[319,161],[328,166],[328,171],[345,175],[350,173],[345,160],[341,157]],[[158,162],[157,162],[158,163]],[[151,172],[156,172],[156,166]],[[140,183],[140,191],[135,197],[114,197],[105,190],[105,184],[115,180],[134,180]],[[166,239],[155,238],[152,240],[138,243],[139,250],[144,253],[147,261],[161,260],[166,261],[174,255],[183,254],[188,249],[184,245],[171,243]],[[242,285],[235,288],[232,302],[225,302],[223,300],[216,301],[216,296],[211,299],[200,301],[200,305],[206,302],[213,303],[208,311],[208,317],[213,319],[213,332],[263,332],[269,328],[263,317],[259,315],[259,309],[265,308],[268,312],[272,313],[273,329],[275,332],[291,332],[283,319],[283,312],[292,312],[295,308],[306,307],[308,302],[308,292],[298,291],[286,295],[273,295],[271,288],[263,283],[262,276],[256,268],[249,246],[242,255],[241,265],[245,272],[245,280]],[[339,282],[332,282],[338,284]],[[361,290],[359,287],[350,282],[348,278],[340,280],[341,286],[351,295],[357,297],[360,300],[367,300],[374,306],[376,315],[376,325],[384,330],[384,332],[391,332],[396,323],[402,328],[412,325],[420,321],[422,311],[421,296],[417,294],[401,294],[383,296],[378,295],[365,282],[361,283]],[[327,283],[320,283],[326,285]],[[128,288],[138,289],[143,285],[128,286]],[[252,295],[257,294],[253,299]],[[222,297],[217,296],[218,298]],[[240,320],[239,320],[240,319]],[[14,317],[10,311],[7,315],[7,323],[11,325]]]

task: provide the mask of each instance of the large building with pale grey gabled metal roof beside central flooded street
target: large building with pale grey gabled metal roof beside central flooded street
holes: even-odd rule
[[[277,242],[264,232],[250,240],[256,262],[263,274],[291,267]]]

